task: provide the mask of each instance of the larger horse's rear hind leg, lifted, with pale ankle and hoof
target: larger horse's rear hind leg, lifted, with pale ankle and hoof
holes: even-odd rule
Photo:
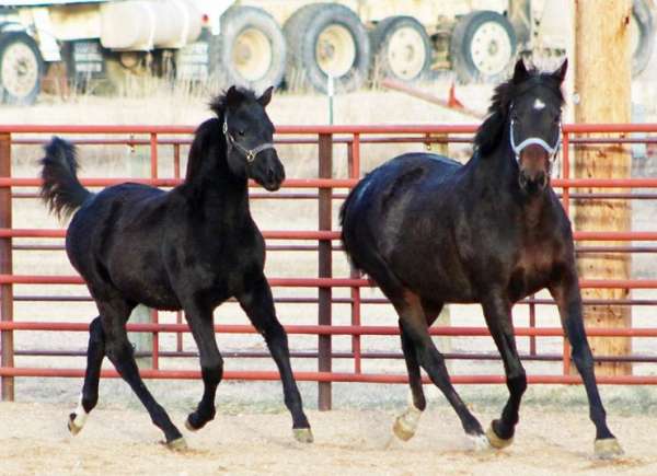
[[[424,309],[427,326],[430,326],[440,314],[440,306],[436,310]],[[404,351],[404,360],[406,361],[406,370],[408,372],[408,386],[411,387],[411,394],[413,396],[413,404],[408,405],[408,408],[400,415],[395,421],[392,430],[394,434],[403,441],[407,441],[415,434],[417,430],[417,423],[419,417],[427,406],[425,394],[422,387],[422,375],[419,373],[419,362],[417,361],[417,353],[415,346],[408,334],[404,332],[402,322],[400,321],[400,333],[402,339],[402,350]]]

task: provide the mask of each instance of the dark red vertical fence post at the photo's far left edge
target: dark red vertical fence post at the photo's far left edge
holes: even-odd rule
[[[11,177],[11,135],[0,133],[0,177]],[[0,228],[12,228],[11,187],[0,188]],[[13,264],[11,254],[11,237],[0,239],[0,275],[12,275]],[[3,322],[13,321],[13,287],[11,283],[0,286],[0,312]],[[14,367],[13,330],[2,330],[0,343],[2,356],[0,364],[4,368]],[[13,402],[13,376],[2,378],[2,399]]]

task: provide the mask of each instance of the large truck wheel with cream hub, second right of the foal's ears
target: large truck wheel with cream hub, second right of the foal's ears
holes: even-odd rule
[[[290,16],[284,33],[290,50],[288,86],[307,83],[326,92],[332,76],[337,91],[353,91],[367,80],[370,39],[360,19],[348,8],[334,3],[307,5]]]

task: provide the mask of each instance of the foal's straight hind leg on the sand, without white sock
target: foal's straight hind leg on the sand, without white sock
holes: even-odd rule
[[[120,298],[97,301],[105,334],[105,353],[119,375],[130,385],[139,400],[148,410],[152,422],[164,432],[166,445],[172,450],[186,448],[178,429],[171,422],[169,415],[146,387],[135,361],[132,345],[128,340],[126,322],[135,307]]]

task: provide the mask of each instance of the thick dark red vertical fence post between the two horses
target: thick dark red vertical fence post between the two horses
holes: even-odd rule
[[[319,175],[320,178],[331,178],[333,175],[333,136],[330,133],[320,133],[319,138],[319,154],[320,154],[320,166]],[[330,231],[332,228],[332,196],[333,188],[320,188],[319,191],[319,229],[321,231]],[[319,275],[320,278],[331,278],[332,272],[332,242],[331,240],[320,240],[319,242]],[[320,325],[332,324],[332,310],[331,299],[332,290],[331,287],[319,288],[319,315],[318,321]],[[330,335],[319,336],[319,370],[320,372],[331,372],[332,362],[332,343]],[[320,410],[331,409],[331,382],[319,383],[319,403],[318,407]]]

